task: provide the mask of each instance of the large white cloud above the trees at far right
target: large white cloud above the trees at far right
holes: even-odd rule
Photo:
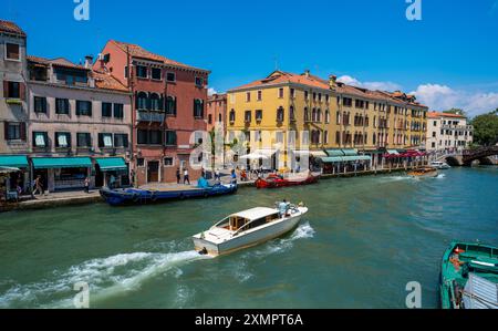
[[[457,91],[446,85],[423,84],[412,92],[417,101],[433,111],[463,108],[469,116],[494,111],[498,107],[498,93],[496,92],[467,92]]]

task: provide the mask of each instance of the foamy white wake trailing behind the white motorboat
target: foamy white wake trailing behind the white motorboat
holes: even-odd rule
[[[89,285],[92,306],[103,299],[135,291],[145,281],[199,259],[209,257],[193,250],[168,254],[132,252],[93,259],[73,266],[64,272],[54,271],[55,280],[14,285],[0,294],[0,308],[71,308],[77,293],[73,287],[79,282]],[[40,307],[40,302],[50,303]]]

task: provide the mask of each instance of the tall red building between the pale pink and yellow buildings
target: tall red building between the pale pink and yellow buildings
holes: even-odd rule
[[[190,154],[206,132],[209,71],[117,41],[107,42],[94,68],[112,72],[133,94],[132,158],[137,184],[176,182],[177,168],[197,178],[200,167]]]

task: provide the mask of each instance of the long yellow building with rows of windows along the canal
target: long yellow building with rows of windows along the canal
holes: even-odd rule
[[[310,74],[274,71],[228,91],[227,137],[246,141],[247,153],[292,168],[290,151],[314,156],[341,148],[373,155],[425,145],[427,107],[402,92],[371,91]]]

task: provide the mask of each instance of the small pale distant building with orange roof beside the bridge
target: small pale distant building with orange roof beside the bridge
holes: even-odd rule
[[[474,127],[458,114],[428,113],[427,151],[457,151],[473,143]]]

